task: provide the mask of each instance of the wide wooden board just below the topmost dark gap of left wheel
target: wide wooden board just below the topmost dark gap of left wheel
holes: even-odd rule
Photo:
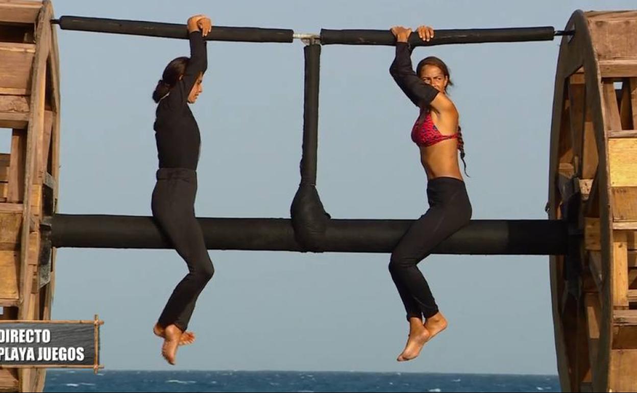
[[[29,89],[34,44],[0,42],[0,87]]]

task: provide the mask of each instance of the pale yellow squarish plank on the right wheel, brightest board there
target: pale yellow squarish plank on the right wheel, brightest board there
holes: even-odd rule
[[[610,185],[637,186],[637,138],[608,140]]]

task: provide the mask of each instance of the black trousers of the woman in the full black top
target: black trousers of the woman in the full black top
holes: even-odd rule
[[[203,239],[203,232],[195,218],[197,173],[192,169],[160,168],[153,190],[153,217],[162,232],[186,261],[189,273],[173,290],[159,325],[175,324],[185,331],[195,308],[197,297],[215,273]]]

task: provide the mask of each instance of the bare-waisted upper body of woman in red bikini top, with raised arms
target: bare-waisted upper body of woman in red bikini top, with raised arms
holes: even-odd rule
[[[449,69],[438,57],[430,56],[420,61],[414,72],[412,48],[408,43],[411,29],[394,27],[392,32],[397,42],[396,60],[390,72],[406,96],[420,108],[420,116],[413,125],[412,140],[420,148],[420,162],[427,178],[444,176],[462,180],[457,151],[460,150],[464,162],[464,143],[458,111],[447,96],[447,87],[453,85]],[[427,26],[420,26],[418,33],[427,41],[434,34]]]

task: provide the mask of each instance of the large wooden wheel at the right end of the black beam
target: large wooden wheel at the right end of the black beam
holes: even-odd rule
[[[562,391],[637,391],[637,11],[582,12],[562,38],[550,143],[550,257]]]

